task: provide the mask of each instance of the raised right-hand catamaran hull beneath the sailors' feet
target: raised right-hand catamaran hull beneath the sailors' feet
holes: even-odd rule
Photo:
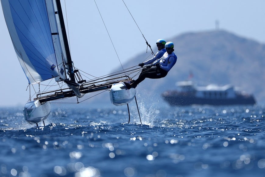
[[[109,93],[111,103],[115,106],[122,106],[130,103],[136,94],[134,88],[127,89],[124,83],[113,84]]]

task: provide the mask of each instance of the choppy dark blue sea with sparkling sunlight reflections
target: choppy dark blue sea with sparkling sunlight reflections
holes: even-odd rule
[[[0,108],[0,176],[255,176],[265,174],[264,106],[52,105],[37,127]]]

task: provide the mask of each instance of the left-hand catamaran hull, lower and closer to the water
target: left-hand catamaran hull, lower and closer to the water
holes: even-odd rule
[[[26,103],[23,109],[24,118],[30,124],[37,124],[44,121],[50,112],[50,102],[40,103],[39,100]]]

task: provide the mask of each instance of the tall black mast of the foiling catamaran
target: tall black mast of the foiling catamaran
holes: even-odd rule
[[[66,52],[66,57],[67,57],[67,65],[68,65],[68,69],[69,69],[70,81],[75,82],[76,80],[75,80],[74,70],[73,70],[73,66],[72,66],[72,58],[71,58],[71,54],[70,54],[69,44],[68,44],[66,30],[65,30],[65,24],[64,24],[63,15],[62,15],[62,6],[61,6],[60,0],[55,0],[55,1],[56,1],[56,5],[57,5],[57,13],[58,13],[61,28],[62,28],[61,29],[62,30],[62,37],[63,37],[63,41],[64,41],[64,46],[65,46],[65,52]]]

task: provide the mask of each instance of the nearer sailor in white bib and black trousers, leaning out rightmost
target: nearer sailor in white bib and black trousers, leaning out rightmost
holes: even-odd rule
[[[150,79],[164,78],[168,74],[168,71],[171,70],[171,68],[175,65],[177,61],[177,56],[174,53],[173,42],[167,42],[165,44],[165,49],[167,52],[165,52],[164,55],[158,61],[155,61],[150,65],[147,65],[146,68],[148,69],[142,70],[138,79],[133,81],[133,83],[131,84],[124,82],[127,89],[130,89],[132,87],[136,88],[136,86],[145,78],[150,78]]]

